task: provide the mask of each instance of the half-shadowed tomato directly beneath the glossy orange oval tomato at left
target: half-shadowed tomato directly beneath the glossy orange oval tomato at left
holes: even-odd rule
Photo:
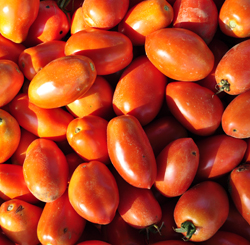
[[[34,105],[23,93],[11,101],[9,108],[21,127],[38,137],[55,141],[66,139],[68,124],[74,119],[62,108],[43,109]]]

